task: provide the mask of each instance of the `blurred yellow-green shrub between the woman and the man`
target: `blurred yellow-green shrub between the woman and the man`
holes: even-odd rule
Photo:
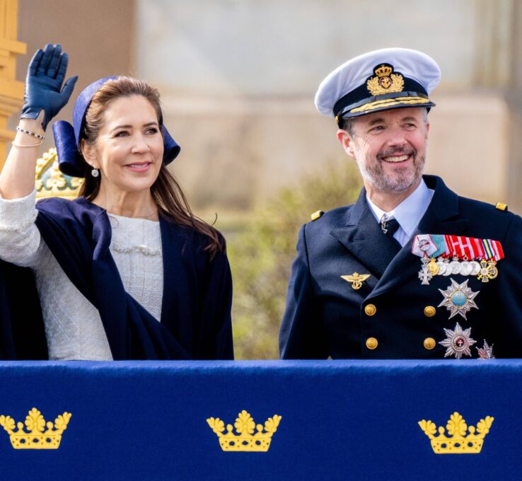
[[[327,166],[283,188],[253,211],[243,230],[228,239],[234,282],[232,319],[236,359],[277,359],[298,228],[310,215],[352,204],[361,188],[353,162]]]

